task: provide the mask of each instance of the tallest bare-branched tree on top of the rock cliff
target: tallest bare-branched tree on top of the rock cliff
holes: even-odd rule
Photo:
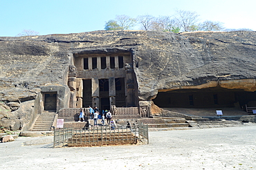
[[[191,12],[187,10],[177,10],[176,11],[176,22],[179,23],[182,31],[194,31],[197,30],[196,22],[199,15],[196,12]]]

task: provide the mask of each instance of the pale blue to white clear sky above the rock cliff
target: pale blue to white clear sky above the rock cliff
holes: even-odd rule
[[[172,16],[176,10],[196,12],[201,22],[256,31],[255,6],[255,0],[0,0],[0,37],[23,30],[39,35],[104,30],[116,15]]]

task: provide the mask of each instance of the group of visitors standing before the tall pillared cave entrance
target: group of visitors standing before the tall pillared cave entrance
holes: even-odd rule
[[[82,108],[80,108],[80,115],[79,115],[79,121],[78,122],[84,122],[84,110]],[[91,106],[89,106],[89,117],[91,120],[94,121],[94,126],[98,126],[98,120],[101,119],[102,121],[102,125],[104,126],[105,122],[105,117],[107,118],[107,124],[109,125],[113,125],[113,120],[112,120],[112,115],[111,112],[108,110],[103,110],[100,113],[100,110],[98,109],[97,106],[94,106],[94,108],[92,108]]]

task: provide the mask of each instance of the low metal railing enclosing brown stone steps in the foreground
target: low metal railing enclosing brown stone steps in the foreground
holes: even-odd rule
[[[54,129],[53,147],[91,147],[117,144],[149,144],[147,124],[129,127],[95,126]]]

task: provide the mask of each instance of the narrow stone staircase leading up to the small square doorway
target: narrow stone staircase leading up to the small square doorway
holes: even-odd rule
[[[35,124],[31,131],[51,131],[53,126],[53,121],[55,118],[55,112],[53,111],[44,111],[37,117]]]

